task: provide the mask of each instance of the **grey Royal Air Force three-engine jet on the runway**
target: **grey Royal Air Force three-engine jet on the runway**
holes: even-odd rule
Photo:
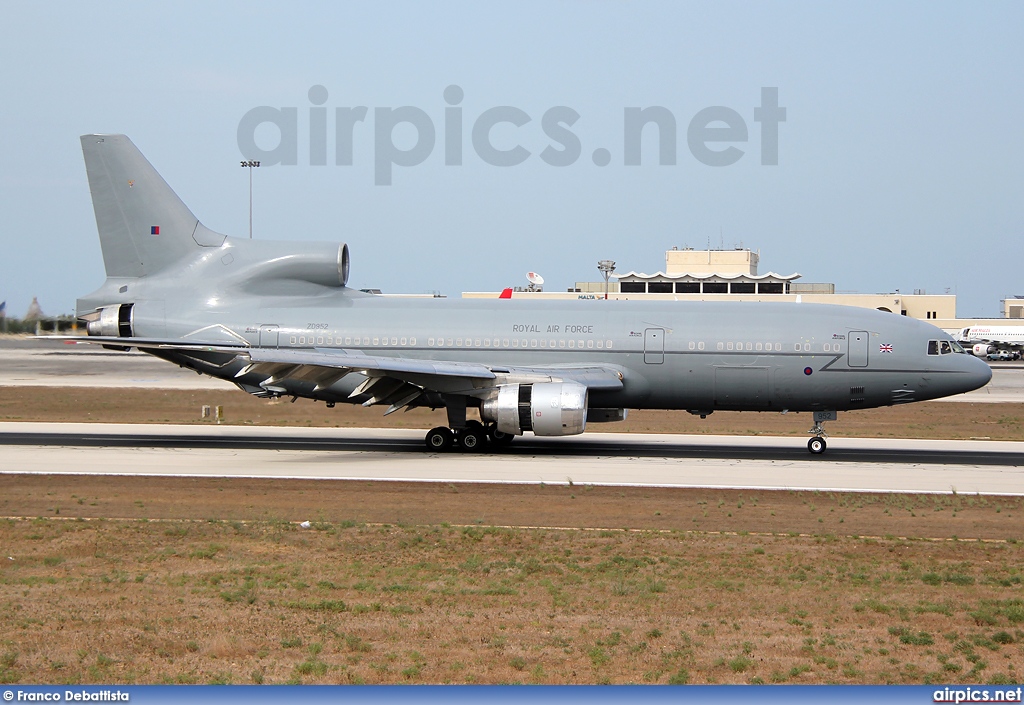
[[[106,269],[78,300],[89,340],[256,397],[388,414],[443,407],[449,425],[427,433],[432,450],[480,451],[525,431],[582,433],[627,409],[679,409],[813,412],[808,448],[821,453],[823,423],[838,411],[938,399],[991,378],[938,328],[863,308],[353,291],[346,245],[214,233],[125,135],[84,135],[82,150]]]

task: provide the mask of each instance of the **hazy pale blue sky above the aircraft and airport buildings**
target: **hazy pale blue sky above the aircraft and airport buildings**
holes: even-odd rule
[[[1024,294],[1024,3],[0,10],[11,316],[33,296],[72,313],[103,281],[79,143],[91,132],[127,134],[204,224],[238,237],[240,162],[261,159],[254,237],[346,242],[357,288],[457,297],[534,271],[564,290],[599,281],[599,259],[654,273],[666,250],[710,244],[838,291],[955,293],[961,317]],[[763,89],[784,121],[765,119],[779,112]],[[359,107],[347,129],[338,109]],[[652,108],[674,120],[674,150],[656,124],[627,128]]]

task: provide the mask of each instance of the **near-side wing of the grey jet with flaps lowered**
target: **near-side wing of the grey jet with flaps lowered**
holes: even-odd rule
[[[283,349],[250,347],[242,344],[210,343],[191,340],[119,338],[104,336],[41,336],[75,342],[98,343],[140,350],[176,350],[210,364],[223,366],[230,360],[248,361],[234,375],[239,386],[259,397],[289,395],[298,384],[327,389],[350,373],[360,373],[367,380],[352,397],[366,395],[365,406],[389,404],[385,413],[416,405],[424,395],[464,395],[482,397],[501,384],[549,381],[574,381],[591,390],[623,388],[623,374],[613,365],[553,365],[550,367],[510,367],[417,358],[366,355],[344,348]],[[262,378],[258,386],[240,378]]]

